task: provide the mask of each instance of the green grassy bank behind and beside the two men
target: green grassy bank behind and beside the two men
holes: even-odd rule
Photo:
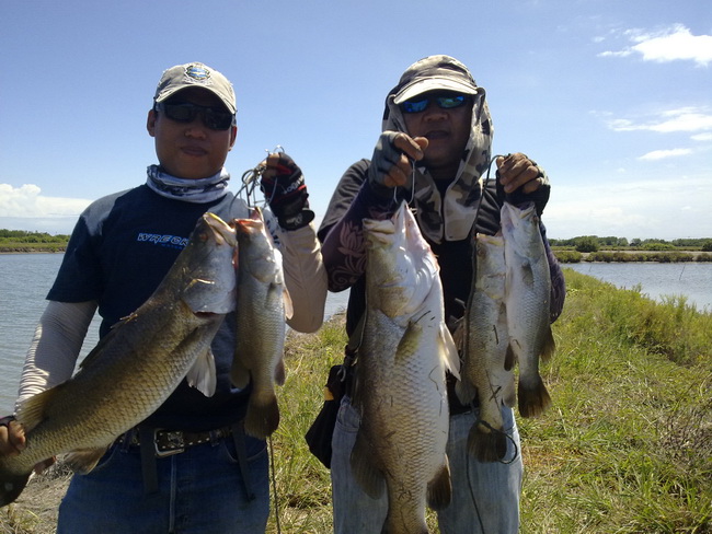
[[[541,369],[553,406],[518,418],[520,532],[712,533],[712,315],[685,299],[661,304],[571,269],[565,276],[556,353]],[[283,533],[331,532],[329,472],[303,434],[345,343],[343,317],[315,335],[290,333],[272,438],[271,534],[275,512]],[[7,524],[0,518],[0,533],[38,532]]]

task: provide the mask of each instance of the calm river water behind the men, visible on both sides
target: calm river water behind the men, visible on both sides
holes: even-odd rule
[[[45,309],[45,297],[59,269],[62,254],[0,254],[0,416],[10,414],[22,373],[25,352]],[[579,272],[618,287],[641,285],[642,292],[659,300],[685,294],[699,310],[712,311],[712,264],[567,264]],[[330,293],[326,317],[346,306],[348,292]],[[94,318],[81,356],[97,341]],[[80,358],[81,358],[80,356]]]

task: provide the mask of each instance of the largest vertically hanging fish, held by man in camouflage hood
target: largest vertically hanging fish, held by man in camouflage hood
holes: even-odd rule
[[[355,478],[388,494],[383,532],[427,533],[426,504],[450,501],[446,369],[458,372],[445,326],[438,266],[403,204],[392,219],[365,220],[366,302],[354,405],[361,423]]]

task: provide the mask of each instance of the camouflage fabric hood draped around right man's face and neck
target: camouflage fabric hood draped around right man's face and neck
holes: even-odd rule
[[[457,175],[445,191],[445,198],[438,190],[435,178],[424,166],[414,170],[415,217],[425,236],[433,243],[460,241],[466,239],[474,224],[478,206],[482,197],[482,175],[490,166],[492,135],[494,128],[490,108],[485,102],[484,89],[478,89],[473,98],[470,139]],[[388,113],[383,119],[383,130],[398,130],[407,134],[403,115],[389,95]],[[409,194],[410,196],[410,194]]]

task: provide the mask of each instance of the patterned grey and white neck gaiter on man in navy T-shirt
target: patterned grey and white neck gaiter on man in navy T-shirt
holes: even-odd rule
[[[149,165],[146,185],[162,197],[203,204],[222,198],[228,193],[230,174],[223,169],[207,178],[176,178],[161,171],[158,165]]]

